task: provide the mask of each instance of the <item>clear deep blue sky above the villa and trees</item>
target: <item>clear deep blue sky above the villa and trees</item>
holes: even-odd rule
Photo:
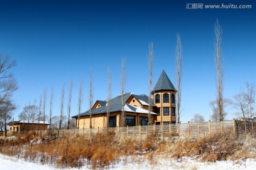
[[[250,4],[251,9],[188,9],[186,4]],[[126,92],[148,94],[149,42],[154,42],[154,84],[162,69],[175,84],[176,34],[183,45],[182,114],[187,122],[198,113],[208,120],[215,98],[214,33],[223,28],[224,97],[233,98],[256,75],[255,1],[0,1],[0,52],[16,60],[12,69],[19,89],[15,113],[55,87],[54,115],[60,114],[60,91],[73,79],[72,113],[78,113],[78,89],[84,82],[88,109],[92,70],[94,101],[107,98],[107,67],[112,96],[120,94],[122,57],[126,58]],[[228,110],[228,118],[233,118]]]

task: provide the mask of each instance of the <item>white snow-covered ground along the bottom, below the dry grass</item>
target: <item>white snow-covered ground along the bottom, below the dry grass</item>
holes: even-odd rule
[[[110,169],[255,169],[256,160],[247,159],[244,161],[228,161],[228,162],[215,162],[215,163],[206,163],[206,162],[195,162],[189,158],[183,159],[181,162],[176,162],[174,160],[158,160],[156,164],[149,164],[148,161],[144,160],[141,162],[120,162],[119,164],[114,164],[110,166]],[[20,169],[20,170],[31,170],[31,169],[42,169],[42,170],[51,170],[56,169],[52,166],[35,164],[31,162],[25,162],[21,159],[16,159],[15,157],[5,156],[0,154],[0,169],[1,170],[10,170],[10,169]],[[82,169],[90,169],[84,166]],[[75,169],[73,169],[75,170]]]

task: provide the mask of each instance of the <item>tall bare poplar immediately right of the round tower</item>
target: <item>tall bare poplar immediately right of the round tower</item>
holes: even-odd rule
[[[177,44],[176,44],[176,115],[177,123],[181,123],[181,78],[182,78],[182,46],[181,37],[177,34]]]

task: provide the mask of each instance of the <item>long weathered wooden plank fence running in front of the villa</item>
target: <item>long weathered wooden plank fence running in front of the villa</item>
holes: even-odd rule
[[[177,138],[188,138],[196,140],[203,137],[214,135],[215,133],[225,133],[230,137],[244,138],[246,135],[256,137],[256,122],[247,122],[240,120],[228,120],[221,122],[203,122],[203,123],[181,123],[169,125],[146,125],[130,126],[122,128],[85,128],[72,130],[40,130],[36,131],[38,135],[50,135],[51,137],[62,137],[63,135],[90,135],[97,132],[110,132],[118,137],[135,137],[143,140],[149,135],[154,135],[162,140],[176,140]],[[9,132],[15,135],[17,132]],[[23,133],[23,132],[18,132]]]

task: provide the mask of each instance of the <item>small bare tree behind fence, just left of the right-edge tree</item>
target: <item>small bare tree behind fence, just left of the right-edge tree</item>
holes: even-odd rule
[[[246,117],[246,108],[247,108],[247,102],[245,99],[245,94],[241,91],[239,94],[234,96],[235,102],[233,103],[235,109],[238,111],[241,111],[242,118],[245,120]],[[240,115],[240,112],[238,112],[238,115]]]

